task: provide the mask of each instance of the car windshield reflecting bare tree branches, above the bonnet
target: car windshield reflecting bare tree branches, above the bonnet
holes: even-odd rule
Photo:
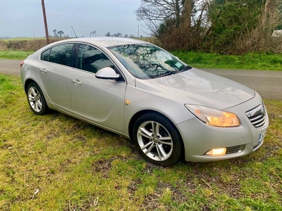
[[[135,77],[149,79],[189,70],[176,57],[151,44],[129,44],[108,48]]]

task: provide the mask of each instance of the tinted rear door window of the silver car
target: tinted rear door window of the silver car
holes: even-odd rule
[[[70,65],[71,51],[73,44],[61,44],[51,48],[49,62],[60,65]]]

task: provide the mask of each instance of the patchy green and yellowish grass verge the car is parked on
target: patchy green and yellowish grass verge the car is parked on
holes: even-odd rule
[[[1,210],[282,210],[282,101],[243,158],[151,165],[133,143],[61,113],[37,116],[0,75]]]

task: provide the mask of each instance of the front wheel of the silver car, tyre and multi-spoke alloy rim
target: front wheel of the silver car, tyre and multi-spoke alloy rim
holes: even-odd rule
[[[146,113],[137,119],[133,141],[142,158],[163,167],[178,162],[183,152],[178,129],[159,113]]]

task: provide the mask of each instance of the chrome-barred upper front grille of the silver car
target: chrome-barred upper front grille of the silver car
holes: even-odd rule
[[[247,117],[249,118],[252,125],[256,128],[262,128],[266,124],[266,109],[264,103],[261,103],[256,108],[246,112]]]

